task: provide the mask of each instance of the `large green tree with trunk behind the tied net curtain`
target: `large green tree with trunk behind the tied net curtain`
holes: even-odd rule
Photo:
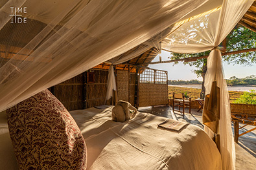
[[[256,33],[249,30],[248,28],[237,25],[231,33],[226,37],[227,45],[226,51],[237,51],[249,48],[256,47]],[[210,51],[200,52],[196,54],[178,54],[172,53],[171,59],[180,59],[180,58],[191,58],[191,57],[200,57],[200,56],[208,56]],[[244,52],[239,54],[233,54],[228,56],[222,56],[223,61],[227,61],[227,63],[233,65],[251,65],[251,63],[256,63],[256,52]],[[205,92],[204,87],[204,76],[207,71],[207,59],[198,59],[197,61],[192,62],[183,62],[184,65],[190,65],[196,67],[195,70],[192,70],[198,77],[202,76],[202,93]],[[235,76],[231,78],[231,80],[237,80]],[[231,81],[231,83],[235,83],[235,81]],[[237,83],[237,82],[236,82]]]

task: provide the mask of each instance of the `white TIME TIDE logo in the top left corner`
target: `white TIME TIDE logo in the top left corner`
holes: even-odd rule
[[[20,8],[15,8],[15,7],[10,7],[12,14],[12,19],[10,21],[11,24],[13,23],[27,23],[27,17],[22,17],[22,14],[27,13],[27,7],[20,7]]]

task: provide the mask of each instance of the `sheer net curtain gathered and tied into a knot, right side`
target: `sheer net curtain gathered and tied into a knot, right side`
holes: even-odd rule
[[[196,53],[211,50],[207,59],[205,93],[211,93],[209,95],[210,98],[220,96],[220,101],[215,103],[215,107],[220,108],[220,119],[214,125],[215,128],[206,123],[205,131],[209,136],[213,137],[214,133],[211,129],[215,129],[215,132],[218,132],[217,134],[220,136],[220,153],[222,154],[223,169],[235,169],[235,144],[231,129],[229,96],[222,70],[222,55],[216,47],[237,25],[252,3],[253,1],[251,0],[224,0],[221,8],[181,25],[178,30],[170,34],[162,42],[163,49],[178,53]],[[216,81],[216,89],[219,90],[211,92],[214,81]],[[204,105],[204,107],[208,106]],[[210,113],[207,109],[204,108],[204,118],[209,117],[209,115],[205,115]]]

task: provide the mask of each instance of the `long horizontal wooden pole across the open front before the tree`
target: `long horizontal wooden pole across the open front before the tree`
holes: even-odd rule
[[[242,52],[252,52],[252,51],[256,51],[256,48],[237,50],[237,51],[231,51],[231,52],[224,52],[224,53],[222,53],[222,56],[232,55],[232,54],[239,54],[239,53],[242,53]],[[174,63],[174,62],[178,62],[178,61],[191,62],[191,61],[196,61],[197,59],[202,59],[202,58],[208,58],[208,56],[172,59],[172,60],[161,61],[161,62],[160,61],[156,61],[156,62],[151,62],[149,64],[150,65],[154,65],[154,64],[159,64],[159,63]]]

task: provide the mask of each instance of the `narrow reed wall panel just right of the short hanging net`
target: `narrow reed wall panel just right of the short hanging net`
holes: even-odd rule
[[[117,96],[118,100],[129,101],[128,71],[117,70]]]

